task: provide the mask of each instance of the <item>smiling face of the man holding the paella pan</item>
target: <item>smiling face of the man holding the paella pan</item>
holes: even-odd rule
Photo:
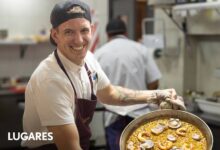
[[[70,19],[52,29],[51,35],[65,57],[75,64],[83,63],[92,38],[92,26],[88,20]]]

